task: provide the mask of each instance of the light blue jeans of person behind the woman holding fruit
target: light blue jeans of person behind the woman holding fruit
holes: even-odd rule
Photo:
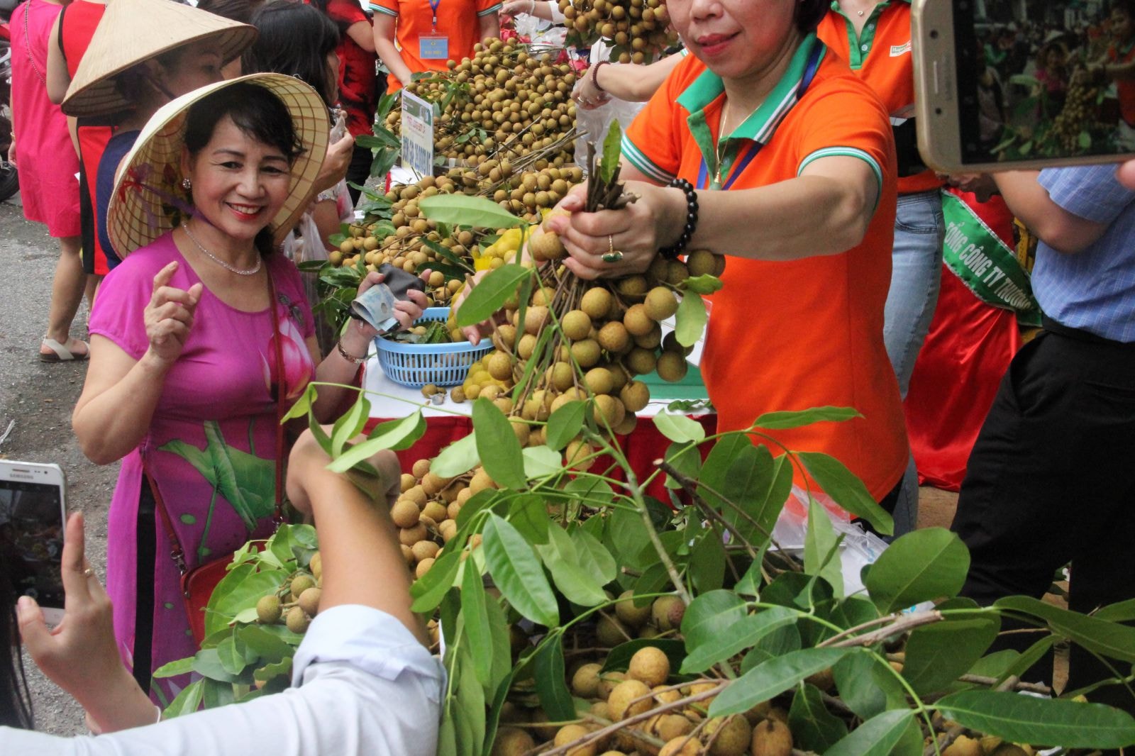
[[[944,237],[945,221],[942,219],[939,190],[899,195],[883,339],[902,398],[907,397],[910,373],[938,305]],[[911,456],[894,507],[894,535],[914,530],[917,520],[918,471]]]

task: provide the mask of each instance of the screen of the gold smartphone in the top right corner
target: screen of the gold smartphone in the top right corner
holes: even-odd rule
[[[964,162],[1135,151],[1135,18],[1109,6],[953,0]]]

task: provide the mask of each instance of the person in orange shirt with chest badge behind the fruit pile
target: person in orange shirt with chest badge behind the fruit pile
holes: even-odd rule
[[[474,44],[501,34],[501,0],[370,0],[370,9],[388,92],[413,74],[445,70],[446,60],[472,58]]]

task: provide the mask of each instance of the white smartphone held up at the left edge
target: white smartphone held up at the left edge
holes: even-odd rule
[[[66,489],[58,464],[0,460],[0,570],[16,596],[40,604],[49,624],[64,619]]]

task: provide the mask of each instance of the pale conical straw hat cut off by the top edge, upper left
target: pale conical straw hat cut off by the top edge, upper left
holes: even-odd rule
[[[127,68],[175,48],[215,40],[222,62],[257,39],[257,27],[183,6],[176,0],[110,0],[67,87],[68,116],[103,116],[131,108],[115,85]]]

